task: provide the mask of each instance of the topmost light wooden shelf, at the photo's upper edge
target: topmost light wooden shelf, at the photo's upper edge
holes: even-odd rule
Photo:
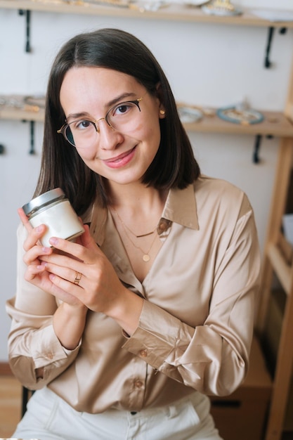
[[[249,9],[243,8],[243,13],[241,15],[227,17],[208,15],[199,7],[184,4],[170,4],[160,8],[158,11],[141,12],[139,6],[136,4],[131,4],[129,7],[125,7],[114,5],[108,6],[107,4],[103,4],[103,2],[101,2],[101,4],[92,4],[86,3],[86,1],[84,1],[84,4],[81,4],[81,2],[79,2],[79,4],[74,4],[73,1],[66,3],[62,0],[0,0],[0,8],[84,15],[119,15],[119,17],[209,22],[223,25],[293,27],[293,22],[272,22],[269,20],[263,20],[250,12]]]

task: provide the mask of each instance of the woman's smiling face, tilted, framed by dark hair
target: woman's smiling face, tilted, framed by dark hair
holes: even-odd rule
[[[139,102],[141,112],[134,109],[126,130],[123,124],[119,131],[107,124],[104,118],[110,108],[139,98],[143,98]],[[98,121],[101,118],[96,122],[98,133],[93,130],[91,142],[86,142],[82,148],[80,145],[76,147],[93,172],[120,184],[141,181],[159,148],[159,118],[164,117],[159,112],[162,110],[159,98],[151,96],[134,77],[122,72],[103,67],[73,67],[63,80],[60,102],[67,122],[77,119]],[[127,109],[122,106],[114,115],[111,112],[113,120],[115,117],[127,118]],[[93,128],[84,122],[74,125],[78,130],[88,126]],[[85,134],[86,131],[82,131],[82,136]]]

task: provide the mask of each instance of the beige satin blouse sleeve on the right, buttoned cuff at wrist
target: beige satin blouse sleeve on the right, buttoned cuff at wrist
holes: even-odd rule
[[[138,328],[124,348],[203,394],[232,393],[247,374],[259,273],[254,216],[245,198],[214,269],[209,314],[202,325],[193,328],[145,300]]]

